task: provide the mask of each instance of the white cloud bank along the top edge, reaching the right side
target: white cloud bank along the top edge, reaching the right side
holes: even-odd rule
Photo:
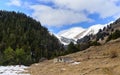
[[[113,16],[120,12],[116,5],[118,0],[52,0],[58,7],[69,8],[74,11],[86,10],[89,14],[98,13],[101,18]]]

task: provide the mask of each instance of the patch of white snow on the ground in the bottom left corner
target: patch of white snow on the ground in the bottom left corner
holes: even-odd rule
[[[26,66],[0,66],[0,75],[30,75],[26,74]],[[25,73],[24,73],[25,72]],[[24,74],[23,74],[24,73]]]

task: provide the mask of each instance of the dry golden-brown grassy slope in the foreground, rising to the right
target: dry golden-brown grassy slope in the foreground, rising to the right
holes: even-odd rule
[[[31,65],[29,71],[31,75],[120,75],[120,39],[67,57],[81,63],[71,65],[47,60]]]

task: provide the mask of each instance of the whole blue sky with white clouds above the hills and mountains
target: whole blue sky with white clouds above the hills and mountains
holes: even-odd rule
[[[53,33],[120,17],[120,0],[0,0],[0,10],[23,12]]]

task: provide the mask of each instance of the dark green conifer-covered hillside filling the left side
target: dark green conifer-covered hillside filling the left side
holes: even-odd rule
[[[0,64],[29,65],[60,55],[62,45],[40,22],[23,13],[0,11]]]

